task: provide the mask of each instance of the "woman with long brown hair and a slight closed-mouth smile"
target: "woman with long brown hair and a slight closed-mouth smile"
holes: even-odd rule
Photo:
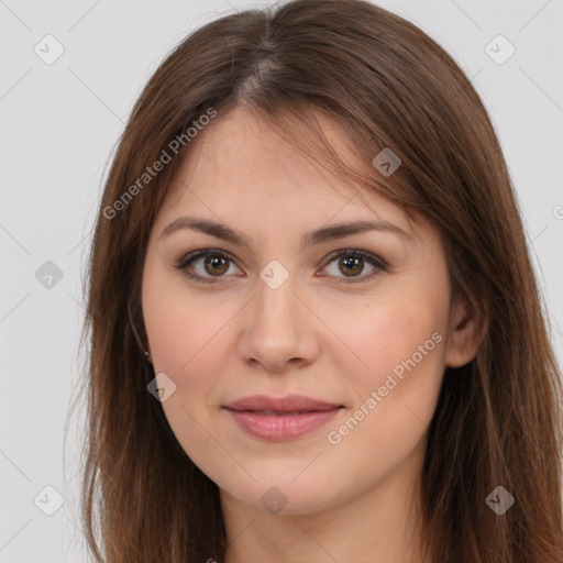
[[[187,37],[121,139],[88,297],[96,561],[563,561],[509,175],[409,22],[297,0]]]

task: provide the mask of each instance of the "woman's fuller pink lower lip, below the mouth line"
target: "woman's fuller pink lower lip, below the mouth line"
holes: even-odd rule
[[[317,410],[301,415],[261,415],[247,410],[227,410],[249,434],[266,440],[291,440],[327,423],[341,409]]]

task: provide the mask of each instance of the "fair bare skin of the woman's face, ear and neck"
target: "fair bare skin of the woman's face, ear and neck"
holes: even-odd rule
[[[336,125],[320,120],[353,161]],[[438,232],[375,194],[351,199],[350,185],[321,173],[249,110],[219,115],[192,148],[151,232],[142,306],[155,374],[176,385],[162,404],[165,416],[220,488],[225,562],[421,563],[428,424],[444,367],[468,362],[478,341],[470,309],[450,303]],[[188,214],[227,224],[249,244],[191,229],[161,235]],[[374,219],[407,234],[372,230],[301,247],[307,231]],[[187,268],[219,283],[198,284],[175,267],[203,249],[233,256]],[[363,250],[388,266],[364,262],[352,267],[364,282],[346,283],[350,269],[332,256],[339,250]],[[260,277],[273,260],[289,274],[277,289]],[[331,443],[329,432],[334,437],[362,405],[365,411],[372,391],[437,333],[441,341],[416,367]],[[301,438],[267,441],[221,408],[254,394],[300,394],[345,408]],[[273,486],[287,499],[278,514],[261,501]]]

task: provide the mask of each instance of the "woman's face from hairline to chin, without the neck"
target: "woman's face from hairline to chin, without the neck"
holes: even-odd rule
[[[223,500],[272,512],[412,483],[444,366],[464,363],[448,338],[438,233],[380,197],[352,197],[242,109],[197,143],[143,272],[148,346],[178,442]]]

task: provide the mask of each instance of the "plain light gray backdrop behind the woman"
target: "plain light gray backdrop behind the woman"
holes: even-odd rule
[[[268,3],[0,0],[0,563],[86,561],[77,488],[82,417],[68,413],[84,360],[81,272],[132,104],[189,31]],[[563,0],[378,3],[443,45],[488,108],[561,361]],[[51,65],[34,52],[56,53],[55,43],[45,46],[47,34],[65,49]],[[516,48],[504,64],[485,51],[498,34]],[[508,53],[501,43],[489,48],[497,58]],[[46,486],[64,498],[52,516],[45,511],[57,507],[57,493]]]

